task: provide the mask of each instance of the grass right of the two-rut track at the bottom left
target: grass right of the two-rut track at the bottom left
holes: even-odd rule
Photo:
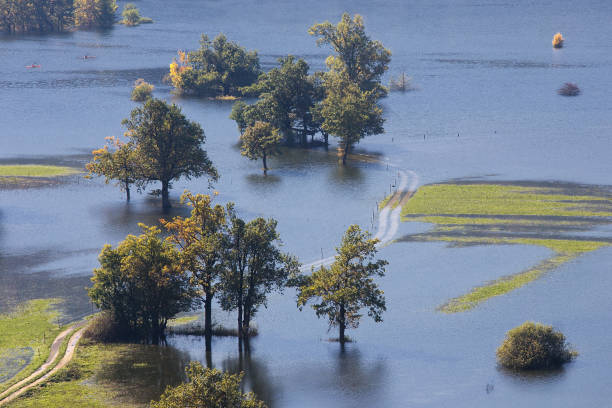
[[[11,408],[64,407],[135,407],[126,401],[117,403],[118,391],[109,384],[98,383],[96,373],[105,361],[112,360],[129,345],[97,344],[82,340],[73,360],[50,380],[35,387],[8,405]]]

